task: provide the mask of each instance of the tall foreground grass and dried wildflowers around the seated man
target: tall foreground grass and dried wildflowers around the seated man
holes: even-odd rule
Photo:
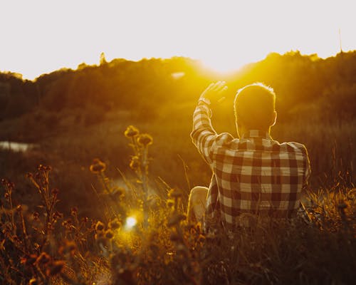
[[[204,233],[200,224],[186,221],[184,191],[162,182],[164,195],[150,192],[150,135],[135,128],[125,134],[134,180],[123,176],[125,187],[117,187],[107,174],[110,165],[99,159],[87,165],[98,179],[91,192],[93,207],[100,209],[96,219],[77,207],[58,211],[61,190],[52,186],[52,167],[40,165],[27,175],[35,204],[16,201],[16,185],[1,181],[1,284],[355,281],[355,188],[335,177],[333,187],[305,193],[298,219],[255,217],[253,227],[239,232]]]

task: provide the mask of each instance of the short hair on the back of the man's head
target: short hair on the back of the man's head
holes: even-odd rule
[[[263,83],[253,83],[237,91],[234,110],[239,120],[249,129],[266,130],[273,122],[276,94]]]

